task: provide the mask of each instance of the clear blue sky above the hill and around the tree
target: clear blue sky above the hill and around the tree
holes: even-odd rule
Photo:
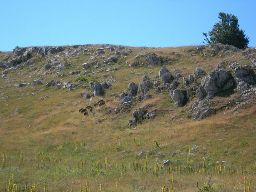
[[[18,45],[202,44],[218,13],[238,17],[256,46],[255,0],[1,0],[0,51]]]

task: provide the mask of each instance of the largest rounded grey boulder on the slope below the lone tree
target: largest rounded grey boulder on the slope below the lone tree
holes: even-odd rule
[[[208,76],[203,77],[201,86],[196,90],[198,99],[203,99],[205,96],[214,96],[216,93],[228,90],[233,87],[232,76],[224,71],[219,70],[211,72]]]

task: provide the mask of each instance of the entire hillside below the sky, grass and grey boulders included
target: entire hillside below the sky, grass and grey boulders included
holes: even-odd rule
[[[255,57],[222,44],[0,52],[0,191],[255,192]]]

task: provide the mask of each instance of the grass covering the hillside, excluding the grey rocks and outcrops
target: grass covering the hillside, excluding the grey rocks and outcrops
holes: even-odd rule
[[[32,187],[33,191],[38,188],[75,192],[82,186],[86,192],[191,192],[208,185],[211,175],[210,185],[214,191],[241,192],[244,187],[246,192],[256,190],[256,105],[238,111],[234,111],[233,106],[203,120],[193,120],[189,110],[196,97],[184,107],[174,105],[167,90],[156,94],[151,89],[151,99],[134,101],[129,107],[122,106],[115,97],[130,82],[141,82],[143,75],[153,81],[163,66],[145,67],[144,58],[138,59],[143,62],[141,66],[127,66],[126,62],[133,64],[134,57],[140,54],[154,52],[171,58],[165,65],[168,70],[173,73],[174,69],[180,69],[186,77],[198,65],[207,74],[221,61],[249,65],[242,52],[202,55],[193,47],[125,47],[124,50],[131,49],[131,53],[118,57],[119,63],[103,65],[103,56],[115,55],[106,46],[70,46],[80,53],[72,57],[64,55],[68,47],[64,52],[44,57],[33,54],[32,65],[21,63],[21,69],[8,70],[7,78],[0,79],[0,191],[8,188],[11,191],[14,185],[14,189],[23,187],[24,191],[27,188],[31,191]],[[105,53],[94,55],[100,47]],[[193,50],[192,53],[189,50]],[[206,47],[207,50],[210,47]],[[13,56],[12,52],[0,52],[0,61],[7,54]],[[96,58],[90,60],[91,56]],[[68,67],[60,73],[56,73],[56,69],[43,69],[50,60]],[[92,64],[95,60],[102,66],[96,69]],[[85,62],[90,65],[89,73],[81,66]],[[111,70],[105,72],[109,67]],[[78,69],[79,74],[69,74]],[[0,73],[4,70],[0,68]],[[52,79],[75,83],[78,77],[86,77],[103,82],[110,76],[117,82],[112,83],[105,95],[92,97],[91,101],[80,96],[90,92],[88,82],[84,82],[86,88],[75,85],[73,91],[45,86]],[[36,79],[43,85],[16,86],[20,82],[32,84]],[[214,107],[238,95],[234,88],[231,95],[215,96]],[[45,96],[48,97],[40,100]],[[99,100],[104,100],[106,105],[93,108],[93,112],[85,116],[78,112]],[[128,128],[133,111],[145,105],[150,106],[149,111],[157,111],[156,117]],[[119,113],[114,112],[115,107],[120,108]],[[198,148],[191,150],[194,145]],[[143,150],[146,154],[138,155]],[[189,153],[194,156],[188,156]],[[172,163],[166,166],[163,160]]]

